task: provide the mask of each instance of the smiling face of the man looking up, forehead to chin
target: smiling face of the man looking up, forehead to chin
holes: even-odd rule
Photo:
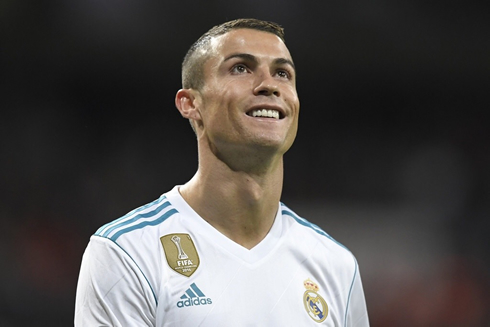
[[[292,145],[299,114],[296,72],[276,35],[236,29],[213,39],[199,93],[202,135],[213,151],[282,155]]]

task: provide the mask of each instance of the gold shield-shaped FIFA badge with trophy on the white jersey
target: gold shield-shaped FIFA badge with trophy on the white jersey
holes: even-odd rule
[[[160,237],[167,263],[175,272],[190,277],[199,267],[199,255],[189,234]]]

